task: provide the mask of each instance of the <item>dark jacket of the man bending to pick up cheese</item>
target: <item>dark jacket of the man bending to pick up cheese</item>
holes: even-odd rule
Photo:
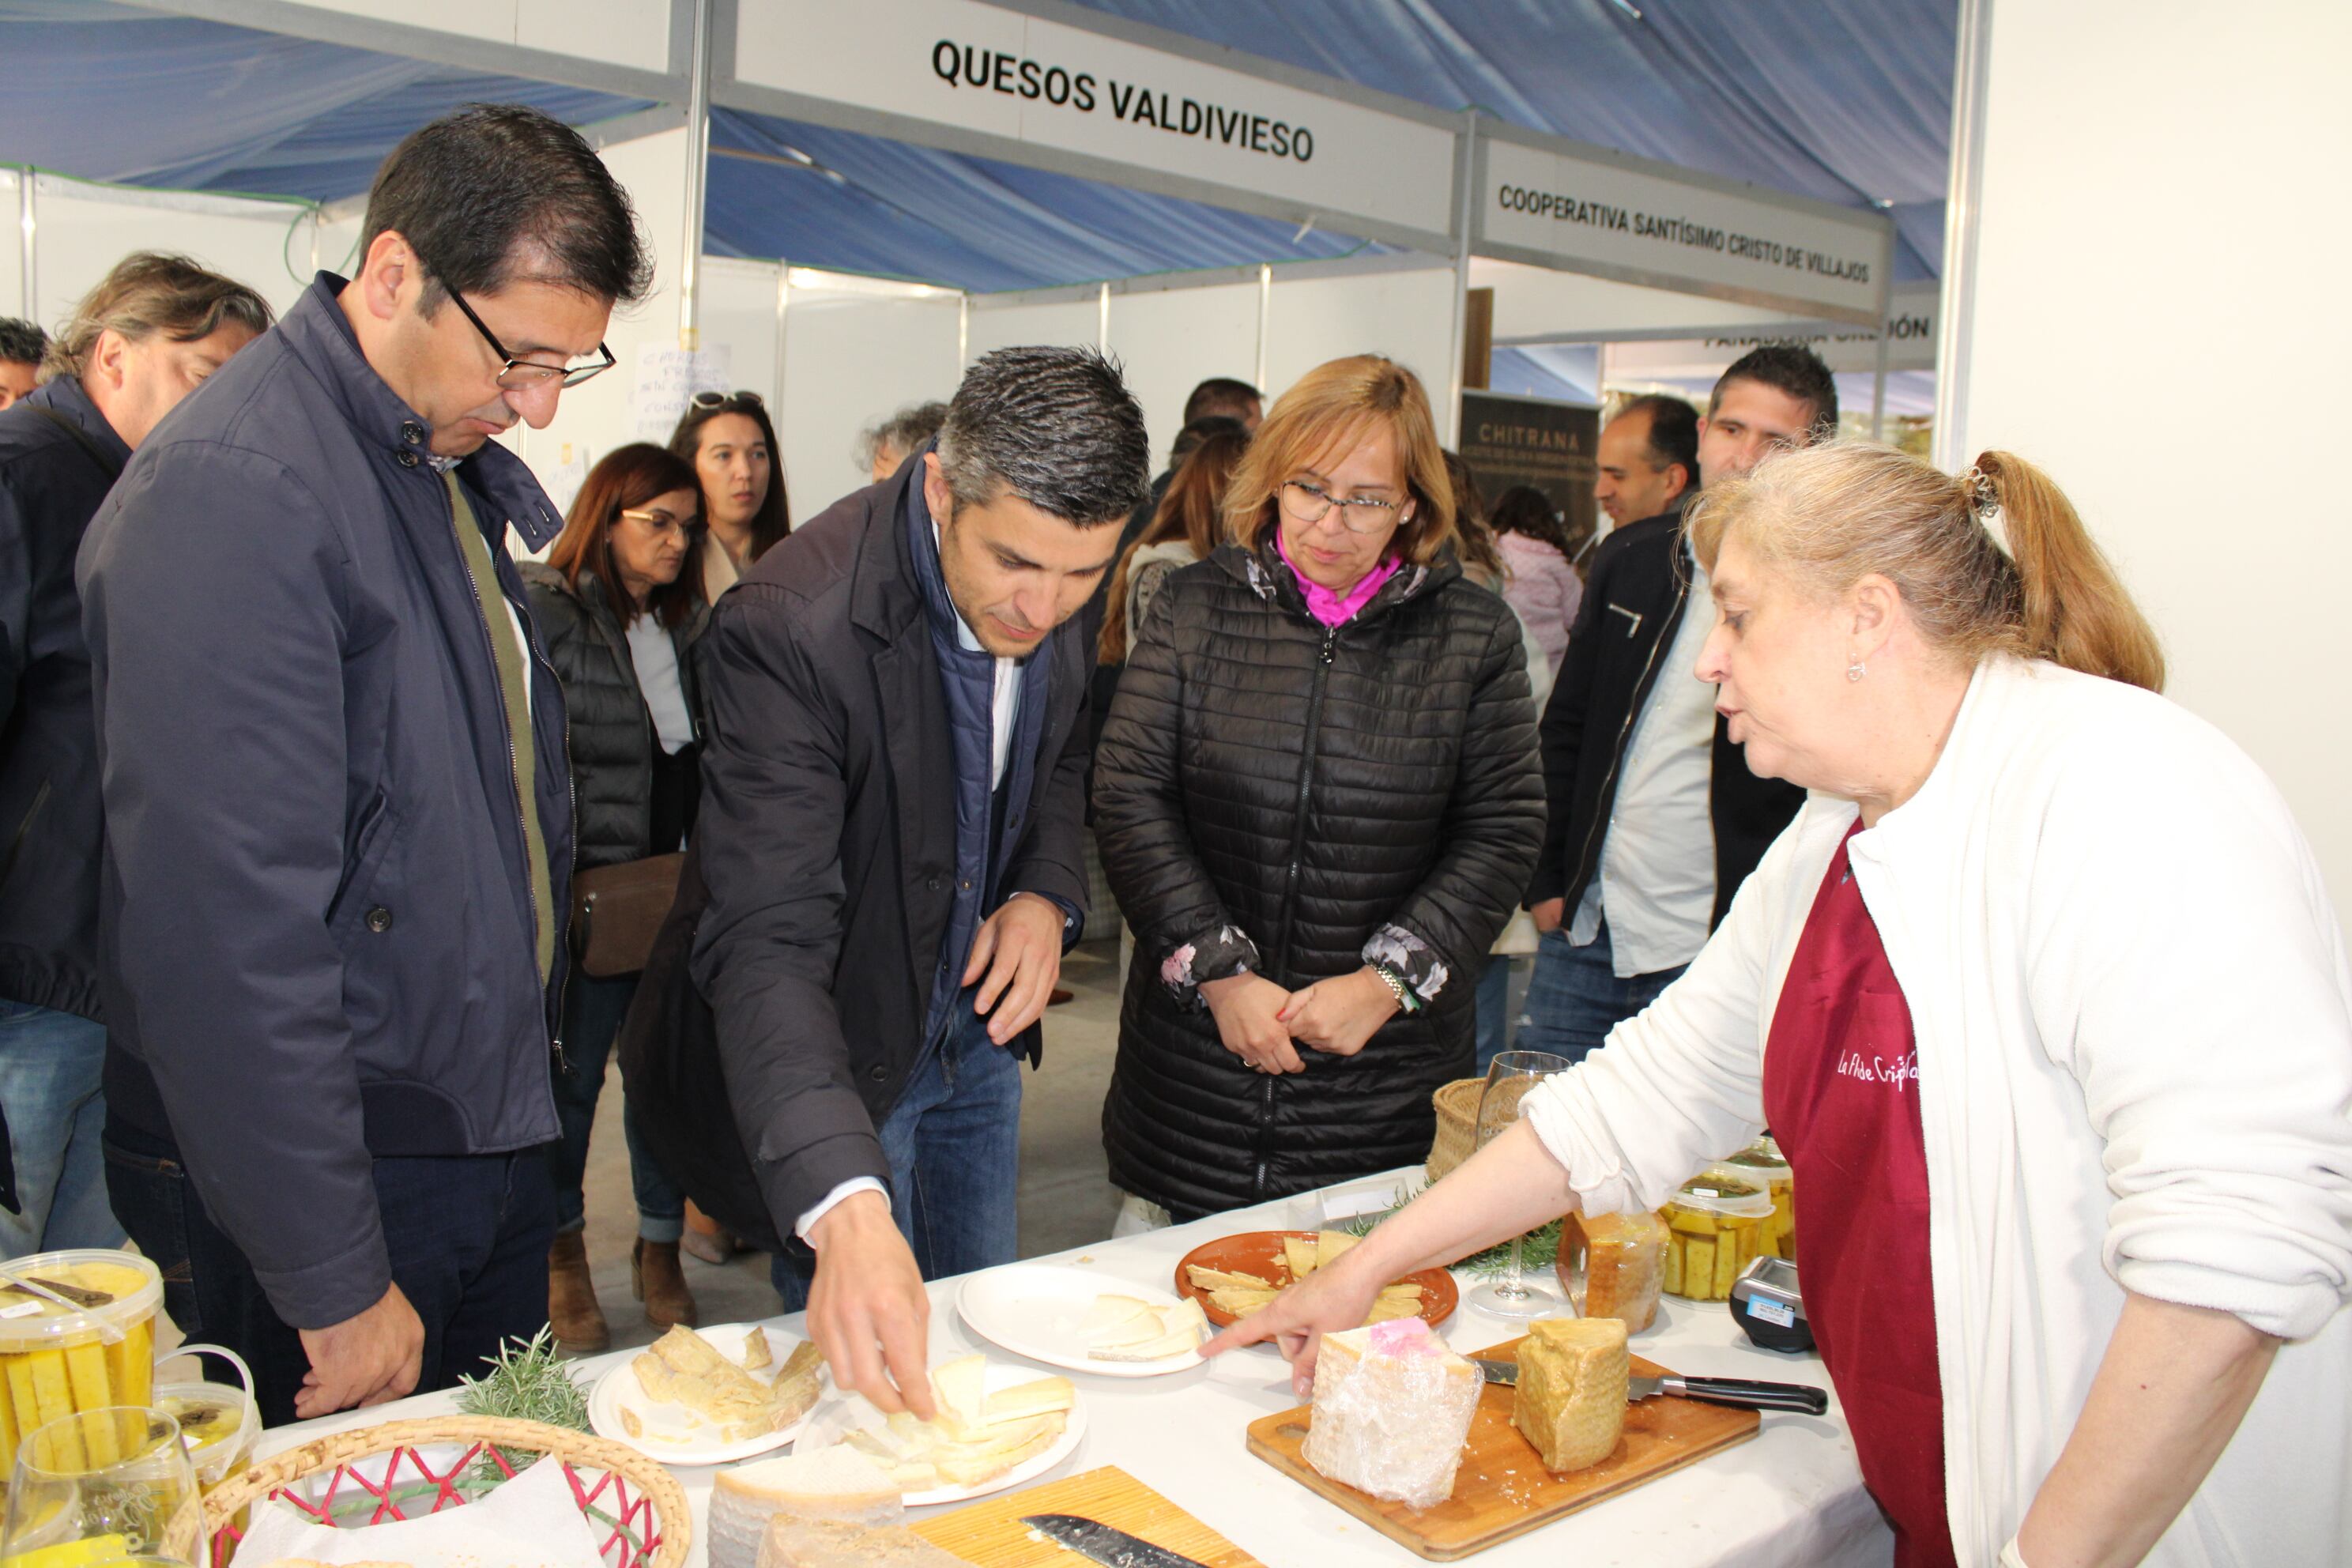
[[[781,1234],[842,1180],[889,1180],[875,1126],[917,1063],[955,903],[955,750],[898,510],[920,473],[793,529],[720,599],[701,646],[694,980]],[[1084,621],[1030,656],[1051,661],[1044,733],[997,884],[1077,912]],[[1035,1060],[1035,1025],[1018,1046]]]

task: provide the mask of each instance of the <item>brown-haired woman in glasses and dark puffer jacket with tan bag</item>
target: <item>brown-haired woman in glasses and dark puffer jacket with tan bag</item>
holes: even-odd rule
[[[564,689],[583,872],[673,853],[694,827],[701,743],[691,646],[710,618],[701,574],[687,571],[699,510],[701,484],[684,458],[644,442],[619,447],[588,470],[546,564],[522,564],[539,639]],[[600,978],[576,961],[564,978],[548,1319],[572,1352],[612,1342],[588,1279],[581,1178],[604,1065],[635,992],[637,976]],[[684,1194],[642,1145],[633,1107],[623,1107],[621,1131],[637,1197],[630,1284],[656,1328],[691,1326],[694,1293],[677,1267]]]

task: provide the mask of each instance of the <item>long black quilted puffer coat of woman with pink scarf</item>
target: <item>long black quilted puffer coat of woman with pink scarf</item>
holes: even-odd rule
[[[1129,651],[1094,820],[1136,929],[1103,1103],[1110,1178],[1178,1218],[1423,1159],[1475,1063],[1475,992],[1543,842],[1519,623],[1451,559],[1327,630],[1275,555],[1174,574]],[[1225,1051],[1197,983],[1367,954],[1428,997],[1303,1074]]]

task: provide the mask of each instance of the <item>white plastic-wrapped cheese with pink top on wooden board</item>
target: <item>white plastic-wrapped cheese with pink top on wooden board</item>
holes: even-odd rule
[[[1327,1333],[1301,1448],[1315,1474],[1425,1509],[1454,1495],[1477,1368],[1418,1316]]]

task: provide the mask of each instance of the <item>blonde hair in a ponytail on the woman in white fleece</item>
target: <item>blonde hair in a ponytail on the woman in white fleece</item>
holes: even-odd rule
[[[1884,576],[1959,663],[2016,654],[2164,689],[2164,651],[2114,567],[2049,475],[2006,451],[1952,480],[1891,447],[1804,447],[1710,484],[1689,527],[1708,571],[1736,531],[1813,592]]]

